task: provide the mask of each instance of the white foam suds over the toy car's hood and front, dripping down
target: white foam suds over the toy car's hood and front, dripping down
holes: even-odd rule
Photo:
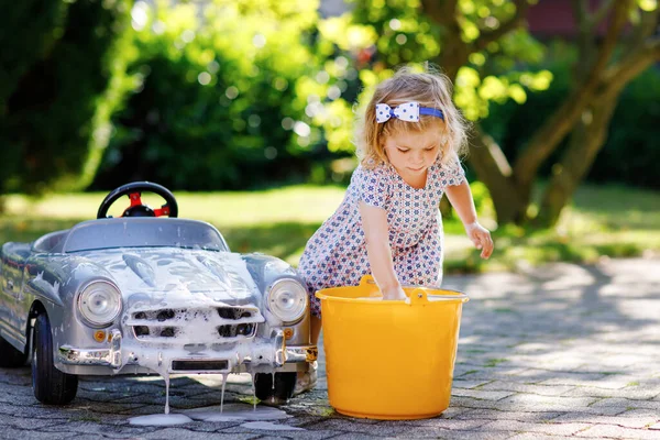
[[[96,253],[99,255],[95,262],[112,268],[120,290],[132,292],[124,298],[127,308],[121,323],[123,328],[132,329],[134,337],[121,341],[121,365],[134,364],[135,372],[140,367],[157,373],[165,381],[165,414],[147,416],[147,424],[168,425],[175,420],[168,418],[169,374],[179,371],[173,371],[174,361],[223,363],[223,366],[218,364],[212,369],[222,374],[219,410],[208,416],[215,420],[258,421],[287,417],[279,410],[256,407],[255,373],[278,365],[278,346],[273,336],[255,334],[257,326],[266,321],[263,314],[267,310],[262,307],[261,290],[241,255],[134,249],[130,253],[122,249]],[[241,306],[235,306],[237,300]],[[221,312],[222,308],[235,308],[240,314],[227,317]],[[223,326],[243,327],[241,332],[233,329],[226,334],[220,331]],[[233,407],[228,413],[228,406],[224,406],[227,377],[229,373],[240,373],[243,364],[252,376],[253,407],[246,411]],[[202,374],[206,373],[205,366],[200,369]]]

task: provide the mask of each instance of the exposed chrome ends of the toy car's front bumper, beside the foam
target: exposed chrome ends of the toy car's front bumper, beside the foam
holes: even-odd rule
[[[275,336],[275,345],[277,349],[274,366],[283,366],[285,363],[314,362],[317,360],[318,349],[316,345],[286,346],[286,341],[280,333],[282,332],[278,331],[278,334]],[[121,332],[116,329],[112,330],[111,333],[110,349],[87,350],[63,345],[57,352],[57,359],[63,364],[67,365],[98,365],[118,370],[124,366],[122,364],[121,355]],[[243,362],[251,363],[252,360],[246,358]],[[130,353],[127,365],[135,363],[134,356]]]

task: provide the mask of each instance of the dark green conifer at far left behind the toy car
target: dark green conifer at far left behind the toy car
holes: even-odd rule
[[[0,89],[0,186],[31,193],[85,187],[121,101],[130,1],[14,7],[0,26],[11,32],[3,42],[12,40],[0,53],[2,66],[11,65]]]

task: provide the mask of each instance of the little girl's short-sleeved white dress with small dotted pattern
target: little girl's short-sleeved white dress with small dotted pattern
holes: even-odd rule
[[[465,173],[458,158],[436,162],[424,188],[408,185],[389,164],[373,169],[360,165],[337,211],[309,239],[298,273],[307,282],[311,314],[320,317],[315,293],[356,286],[371,274],[360,201],[387,211],[394,270],[403,285],[440,286],[442,282],[442,219],[438,209],[444,189],[460,185]]]

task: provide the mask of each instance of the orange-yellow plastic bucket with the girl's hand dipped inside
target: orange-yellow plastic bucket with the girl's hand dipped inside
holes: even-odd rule
[[[405,287],[385,301],[371,276],[356,287],[316,293],[323,316],[330,405],[370,419],[422,419],[449,407],[461,311],[460,292]]]

